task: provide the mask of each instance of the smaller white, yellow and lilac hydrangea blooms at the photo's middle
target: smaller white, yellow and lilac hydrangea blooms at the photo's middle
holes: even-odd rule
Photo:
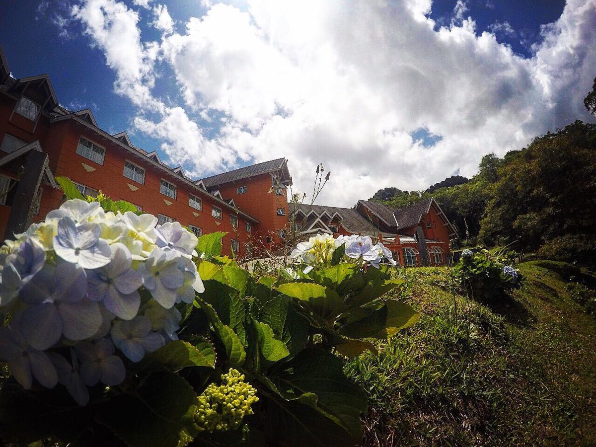
[[[393,254],[380,242],[373,243],[368,236],[339,235],[334,238],[328,234],[318,234],[306,242],[297,244],[290,254],[292,259],[308,265],[304,270],[308,273],[315,267],[330,265],[335,250],[345,244],[345,256],[350,262],[361,263],[363,266],[378,268],[384,260],[391,265],[397,265]]]

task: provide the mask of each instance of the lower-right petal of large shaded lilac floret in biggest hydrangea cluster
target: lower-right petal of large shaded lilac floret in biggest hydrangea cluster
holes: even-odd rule
[[[64,322],[64,336],[69,340],[85,340],[100,330],[100,306],[89,300],[78,303],[60,303],[60,316]]]

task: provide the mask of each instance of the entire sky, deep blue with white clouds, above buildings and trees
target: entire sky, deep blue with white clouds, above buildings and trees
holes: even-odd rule
[[[589,15],[596,10],[593,0],[570,2],[563,16],[561,0],[434,1],[430,14],[406,2],[394,2],[385,11],[367,2],[349,2],[341,9],[316,2],[288,2],[281,8],[266,0],[120,3],[7,2],[0,15],[0,44],[13,75],[48,73],[62,105],[91,108],[101,128],[126,130],[135,145],[158,150],[197,176],[278,156],[313,166],[319,161],[336,164],[335,171],[351,181],[343,184],[338,178],[343,193],[327,194],[342,203],[356,195],[368,197],[376,186],[424,188],[456,170],[473,175],[487,151],[504,153],[573,117],[586,119],[576,97],[596,76],[589,74],[594,69],[595,42],[589,31],[591,25],[596,28],[596,16]],[[162,4],[173,23],[167,31],[155,24]],[[589,14],[580,12],[585,5],[594,6]],[[77,17],[73,6],[82,11]],[[92,22],[93,8],[103,8],[105,23]],[[123,21],[123,26],[136,26],[141,36],[140,43],[131,41],[131,65],[142,60],[136,67],[141,74],[127,82],[145,86],[163,107],[159,113],[135,104],[131,94],[114,86],[126,67],[122,60],[107,63],[116,60],[114,51],[122,51],[114,49],[119,36],[110,26],[125,15],[134,20]],[[468,18],[475,24],[472,32],[462,22]],[[431,34],[425,29],[429,19],[434,20]],[[554,29],[541,33],[550,23],[556,24]],[[574,34],[573,26],[587,31]],[[379,27],[378,41],[371,36],[373,27]],[[492,33],[496,42],[483,41],[483,32]],[[415,33],[420,38],[409,40]],[[309,40],[311,34],[319,41]],[[562,41],[577,35],[585,41]],[[159,47],[157,57],[148,51],[151,42]],[[581,49],[579,63],[584,65],[573,66],[578,62],[571,57],[557,59],[556,45],[575,48],[576,57]],[[408,62],[395,65],[401,59]],[[570,80],[571,85],[557,76],[566,69],[587,74]],[[353,79],[350,73],[356,73]],[[437,84],[444,85],[434,90]],[[570,88],[573,98],[564,93]],[[387,99],[392,95],[395,102]],[[349,123],[359,113],[362,117]],[[495,116],[502,122],[491,123]],[[362,133],[352,135],[359,126]],[[486,138],[477,138],[480,133]],[[189,149],[193,138],[196,147]],[[460,138],[468,147],[454,153]],[[411,161],[418,147],[424,150],[422,157],[430,158]],[[361,156],[362,167],[343,160],[343,152]],[[396,177],[396,167],[375,167],[373,160],[389,155],[411,174]],[[294,177],[306,184],[309,169],[302,173],[297,160],[290,166],[296,166]],[[374,172],[376,178],[371,177]]]

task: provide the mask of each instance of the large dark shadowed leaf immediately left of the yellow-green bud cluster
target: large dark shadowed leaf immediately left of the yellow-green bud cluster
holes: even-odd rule
[[[131,447],[181,447],[197,434],[192,424],[195,399],[184,378],[156,371],[134,394],[110,399],[96,418]]]

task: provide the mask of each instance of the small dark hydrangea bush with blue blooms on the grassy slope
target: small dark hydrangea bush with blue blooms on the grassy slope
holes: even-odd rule
[[[514,253],[492,254],[486,249],[462,250],[454,274],[468,295],[495,300],[505,290],[521,287],[522,274],[515,268]]]

